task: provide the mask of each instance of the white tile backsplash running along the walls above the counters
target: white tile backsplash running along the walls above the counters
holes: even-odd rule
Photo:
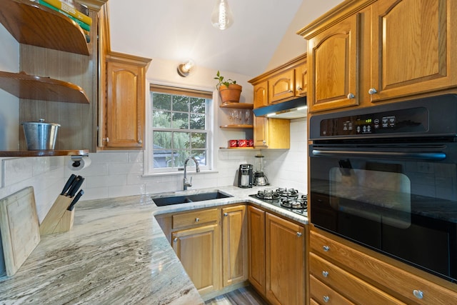
[[[210,173],[190,172],[191,189],[236,185],[239,164],[254,164],[255,155],[265,156],[266,176],[270,184],[306,191],[306,119],[291,121],[291,149],[216,151],[215,169]],[[137,194],[178,191],[182,174],[144,176],[143,151],[109,151],[89,154],[91,165],[81,171],[71,171],[70,156],[4,158],[1,161],[0,198],[33,186],[36,208],[41,222],[60,194],[71,174],[84,176],[84,196],[81,200],[114,198]]]

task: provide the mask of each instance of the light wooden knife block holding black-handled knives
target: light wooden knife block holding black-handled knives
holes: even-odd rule
[[[72,197],[63,195],[57,197],[39,226],[41,236],[70,231],[73,227],[74,209],[68,211],[67,208],[72,200]]]

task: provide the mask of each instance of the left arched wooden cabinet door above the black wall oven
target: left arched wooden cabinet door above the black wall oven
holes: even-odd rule
[[[358,53],[358,15],[308,41],[310,112],[359,104]]]

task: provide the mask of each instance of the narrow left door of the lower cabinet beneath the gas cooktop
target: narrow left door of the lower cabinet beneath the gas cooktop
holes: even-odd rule
[[[265,212],[248,206],[248,279],[265,295]]]

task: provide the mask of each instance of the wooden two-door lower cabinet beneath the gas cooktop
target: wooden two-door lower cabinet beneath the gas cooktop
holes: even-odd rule
[[[248,206],[248,279],[271,304],[306,304],[305,228]]]

